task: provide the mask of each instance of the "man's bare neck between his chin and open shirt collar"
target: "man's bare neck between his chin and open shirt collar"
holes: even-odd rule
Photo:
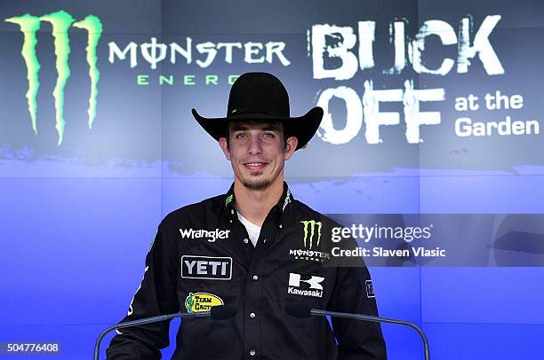
[[[284,193],[284,181],[276,181],[263,190],[251,190],[235,180],[236,210],[255,225],[262,226],[270,209]]]

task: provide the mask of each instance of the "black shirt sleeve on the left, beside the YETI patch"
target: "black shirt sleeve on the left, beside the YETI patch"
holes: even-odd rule
[[[177,247],[159,226],[146,256],[146,268],[128,315],[121,322],[180,312],[176,293]],[[106,350],[108,359],[160,359],[169,343],[171,320],[119,329]]]

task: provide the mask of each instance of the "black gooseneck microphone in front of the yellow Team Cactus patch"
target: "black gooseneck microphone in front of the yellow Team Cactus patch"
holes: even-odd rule
[[[145,325],[151,323],[158,323],[160,321],[170,320],[175,317],[192,318],[192,317],[212,317],[214,320],[226,320],[230,317],[234,317],[238,310],[232,306],[220,305],[214,306],[210,311],[202,312],[178,312],[175,314],[159,315],[157,317],[145,317],[138,320],[126,321],[117,325],[109,326],[106,330],[100,333],[96,344],[94,346],[94,360],[99,359],[100,354],[100,341],[102,338],[112,330],[123,329],[125,327],[132,327],[138,325]]]

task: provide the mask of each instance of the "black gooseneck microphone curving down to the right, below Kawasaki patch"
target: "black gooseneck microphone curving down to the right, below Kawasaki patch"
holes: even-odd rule
[[[423,331],[420,329],[418,325],[409,323],[407,321],[396,320],[396,319],[387,318],[387,317],[373,317],[372,315],[351,314],[348,312],[335,312],[335,311],[326,311],[326,310],[320,310],[320,309],[310,309],[309,306],[299,302],[288,303],[285,306],[285,312],[291,315],[292,317],[304,318],[304,317],[311,317],[312,315],[319,315],[319,316],[325,316],[325,317],[326,316],[347,317],[347,318],[352,318],[356,320],[372,321],[373,323],[388,323],[388,324],[410,326],[412,327],[412,329],[414,329],[416,332],[420,334],[420,337],[423,340],[423,351],[425,354],[425,360],[430,360],[427,336],[425,336],[425,333],[423,333]]]

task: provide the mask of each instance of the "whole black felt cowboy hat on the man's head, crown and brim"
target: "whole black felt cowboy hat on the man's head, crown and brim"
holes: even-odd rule
[[[284,84],[268,73],[245,73],[236,79],[228,95],[226,117],[204,118],[195,109],[192,113],[200,126],[218,141],[228,134],[228,121],[282,121],[285,133],[299,139],[295,150],[308,144],[323,118],[323,109],[319,106],[302,116],[291,117]]]

